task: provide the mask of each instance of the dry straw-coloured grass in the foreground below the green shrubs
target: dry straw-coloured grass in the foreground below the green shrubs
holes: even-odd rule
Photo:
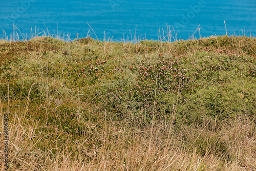
[[[16,111],[9,122],[9,170],[256,169],[255,120],[245,116],[219,124],[209,120],[201,126],[184,125],[180,130],[163,123],[135,130],[125,122],[129,121],[109,121],[101,128],[84,123],[101,144],[89,142],[88,131],[76,141],[56,138],[48,142],[56,146],[43,151],[38,148],[45,144],[38,122]],[[84,148],[89,143],[93,146]]]

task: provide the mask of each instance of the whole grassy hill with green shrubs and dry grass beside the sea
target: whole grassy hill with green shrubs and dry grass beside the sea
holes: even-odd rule
[[[2,41],[8,169],[256,169],[255,74],[244,36]]]

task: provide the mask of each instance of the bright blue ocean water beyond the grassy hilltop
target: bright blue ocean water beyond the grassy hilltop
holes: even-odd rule
[[[13,33],[13,24],[28,38],[47,32],[68,35],[70,39],[79,34],[79,38],[90,35],[101,40],[158,40],[160,34],[163,39],[163,34],[172,31],[172,40],[188,39],[199,25],[196,38],[225,34],[256,36],[255,0],[0,1],[2,38]]]

